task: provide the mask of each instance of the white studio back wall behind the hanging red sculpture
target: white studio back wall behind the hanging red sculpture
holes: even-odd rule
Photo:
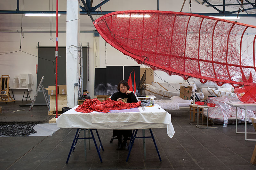
[[[0,10],[16,10],[16,0],[1,1]],[[55,10],[55,3],[53,1],[53,10]],[[100,0],[94,0],[93,6],[99,4]],[[159,1],[159,10],[162,11],[180,11],[183,1],[176,0],[161,0]],[[52,0],[50,0],[52,4]],[[20,0],[20,10],[22,9],[22,0]],[[52,9],[52,8],[51,8]],[[111,0],[104,4],[101,9],[103,11],[122,11],[122,10],[156,10],[157,0]],[[220,8],[221,9],[221,8]],[[49,11],[49,1],[34,1],[24,0],[23,10],[41,10]],[[226,10],[229,10],[226,7]],[[66,1],[59,1],[59,11],[66,11]],[[98,9],[97,9],[98,11]],[[234,11],[231,9],[230,11]],[[183,8],[182,12],[189,12],[188,1]],[[197,4],[196,1],[192,1],[192,12],[213,12],[217,11],[211,7]],[[96,19],[96,15],[92,15]],[[25,17],[20,14],[0,14],[0,30],[20,30],[22,18],[23,30],[50,30],[50,19]],[[99,18],[99,15],[97,16]],[[59,31],[66,30],[66,15],[61,15],[59,19]],[[241,18],[238,22],[256,25],[255,18]],[[52,29],[55,30],[55,18],[52,21]],[[80,15],[80,30],[95,30],[91,19],[87,15]],[[0,54],[9,53],[20,50],[20,33],[3,33],[0,32]],[[52,33],[53,41],[55,40],[55,33]],[[21,50],[32,55],[38,55],[37,42],[40,42],[40,46],[53,46],[55,42],[50,39],[50,33],[24,33],[22,38]],[[106,44],[107,53],[105,55],[105,41],[99,37],[93,37],[93,33],[80,33],[80,41],[84,46],[87,46],[89,42],[89,81],[87,79],[87,90],[90,92],[91,97],[94,97],[94,68],[105,68],[105,57],[108,66],[115,65],[130,65],[140,66],[130,57],[119,52],[108,43]],[[95,42],[97,42],[97,50]],[[59,33],[58,38],[59,46],[66,46],[66,33]],[[95,52],[97,51],[96,55]],[[34,79],[33,91],[30,92],[30,96],[33,97],[36,92],[36,64],[37,57],[28,55],[23,52],[10,53],[0,55],[0,75],[10,75],[10,87],[12,87],[13,78],[20,73],[32,73]],[[54,59],[54,55],[52,57]],[[96,57],[97,56],[97,57]],[[84,66],[85,67],[85,66]],[[143,67],[143,66],[141,66]],[[154,81],[158,82],[183,82],[184,80],[179,76],[169,76],[162,71],[155,71],[155,73],[161,77],[154,76]],[[87,73],[88,74],[88,73]],[[164,79],[164,81],[162,80]],[[84,80],[85,81],[85,80]],[[15,99],[22,100],[23,91],[15,91]]]

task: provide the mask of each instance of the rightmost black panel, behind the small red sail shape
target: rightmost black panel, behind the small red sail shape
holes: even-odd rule
[[[135,83],[136,83],[136,86],[138,86],[140,84],[140,66],[124,66],[124,80],[128,81],[129,76],[133,69],[135,71]],[[132,72],[132,86],[134,87],[133,75],[134,74]],[[137,89],[137,87],[136,87],[136,89]]]

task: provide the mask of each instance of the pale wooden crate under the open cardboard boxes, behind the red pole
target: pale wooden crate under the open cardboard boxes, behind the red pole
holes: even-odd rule
[[[55,95],[50,95],[50,111],[56,110]],[[67,95],[58,94],[58,112],[62,112],[62,107],[67,107]]]

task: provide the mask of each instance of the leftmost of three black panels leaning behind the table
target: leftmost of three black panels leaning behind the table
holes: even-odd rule
[[[95,68],[94,95],[107,95],[107,75],[105,68]]]

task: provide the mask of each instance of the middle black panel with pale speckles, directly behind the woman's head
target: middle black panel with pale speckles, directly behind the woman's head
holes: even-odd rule
[[[107,95],[118,92],[117,85],[123,80],[123,66],[107,66]]]

